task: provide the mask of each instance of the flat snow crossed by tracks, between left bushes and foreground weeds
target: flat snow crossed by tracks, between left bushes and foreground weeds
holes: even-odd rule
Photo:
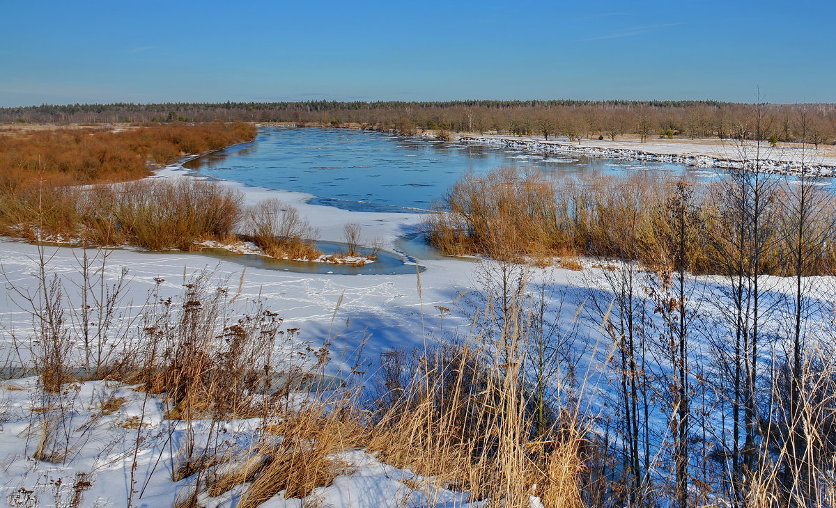
[[[334,211],[334,213],[344,213]],[[397,214],[400,218],[403,214]],[[64,278],[68,297],[80,284],[80,249],[47,247],[48,272]],[[28,306],[16,292],[5,287],[13,284],[23,290],[34,289],[33,272],[38,269],[38,248],[18,241],[0,241],[0,269],[6,283],[0,292],[0,319],[3,336],[17,333],[27,335],[32,328]],[[421,262],[427,268],[421,273],[421,297],[418,294],[416,275],[334,275],[305,274],[243,267],[235,262],[217,262],[211,257],[186,253],[149,253],[115,250],[107,259],[110,282],[119,276],[120,267],[129,270],[129,290],[121,307],[140,307],[147,293],[155,287],[155,279],[162,278],[163,292],[174,295],[197,272],[209,270],[218,283],[237,289],[243,274],[242,298],[261,297],[267,307],[284,318],[288,328],[301,328],[304,336],[323,340],[332,328],[336,311],[334,332],[344,327],[350,317],[349,330],[340,335],[356,346],[364,330],[372,333],[368,353],[375,354],[391,346],[411,348],[420,346],[421,323],[432,322],[437,311],[434,306],[451,306],[459,292],[472,286],[472,273],[477,264],[466,261]],[[184,279],[184,273],[186,279]],[[449,323],[449,321],[448,321]],[[426,324],[426,326],[428,326]]]

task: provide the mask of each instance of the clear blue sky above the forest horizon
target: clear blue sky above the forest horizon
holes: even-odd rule
[[[836,102],[836,2],[13,2],[0,106]]]

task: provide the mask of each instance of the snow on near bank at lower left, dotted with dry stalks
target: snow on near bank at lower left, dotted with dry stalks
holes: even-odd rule
[[[204,436],[208,422],[197,420],[190,425],[165,419],[161,399],[137,392],[129,385],[108,381],[72,384],[61,397],[67,437],[66,441],[59,439],[57,448],[65,455],[64,460],[50,463],[33,458],[43,422],[55,417],[44,410],[42,401],[35,396],[35,383],[35,378],[0,382],[0,505],[126,506],[128,493],[133,490],[131,505],[164,508],[190,494],[191,478],[172,479],[180,460],[176,444],[187,439],[190,430]],[[256,427],[257,422],[251,419],[233,420],[223,427],[224,441],[247,450],[257,439]],[[344,451],[332,459],[343,467],[331,485],[314,489],[304,500],[285,500],[280,492],[262,506],[479,505],[469,504],[465,493],[435,488],[430,480],[381,464],[362,450]],[[229,507],[240,499],[241,493],[240,485],[215,497],[203,493],[198,504],[206,508]]]

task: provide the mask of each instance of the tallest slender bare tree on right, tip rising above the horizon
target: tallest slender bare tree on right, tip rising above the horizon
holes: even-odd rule
[[[772,252],[777,238],[777,187],[780,180],[767,175],[763,160],[767,147],[762,144],[767,127],[767,104],[760,96],[752,106],[754,143],[738,139],[737,156],[745,160],[742,168],[730,170],[719,186],[716,204],[712,207],[723,231],[711,239],[711,256],[716,257],[721,272],[729,282],[726,298],[717,307],[734,337],[733,351],[717,344],[721,364],[732,380],[732,436],[728,438],[727,456],[732,461],[732,491],[738,501],[746,495],[747,482],[757,466],[762,446],[762,427],[758,407],[761,403],[759,384],[762,381],[762,348],[768,335],[766,324],[771,305],[767,292],[771,289],[764,274],[775,270]],[[721,340],[725,340],[721,338]]]

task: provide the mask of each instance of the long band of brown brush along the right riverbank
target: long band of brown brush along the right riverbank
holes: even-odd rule
[[[737,178],[737,180],[736,180]],[[761,176],[767,180],[768,176]],[[599,257],[637,261],[646,267],[664,264],[674,211],[687,213],[686,248],[698,274],[727,274],[724,260],[742,245],[737,231],[750,213],[754,191],[733,176],[711,184],[691,180],[631,175],[543,175],[532,170],[500,168],[487,175],[464,175],[428,216],[424,231],[431,244],[447,255],[481,255],[509,262],[554,257]],[[757,190],[764,236],[761,273],[791,275],[784,262],[792,251],[790,229],[796,221],[797,190],[783,180],[767,180]],[[809,184],[806,184],[809,185]],[[815,262],[803,275],[833,272],[833,228],[836,201],[826,191],[809,190],[808,251]],[[743,195],[741,195],[743,193]],[[744,226],[745,228],[746,226]],[[735,229],[737,228],[737,230]],[[745,243],[745,242],[744,242]],[[670,251],[670,249],[667,249]]]

